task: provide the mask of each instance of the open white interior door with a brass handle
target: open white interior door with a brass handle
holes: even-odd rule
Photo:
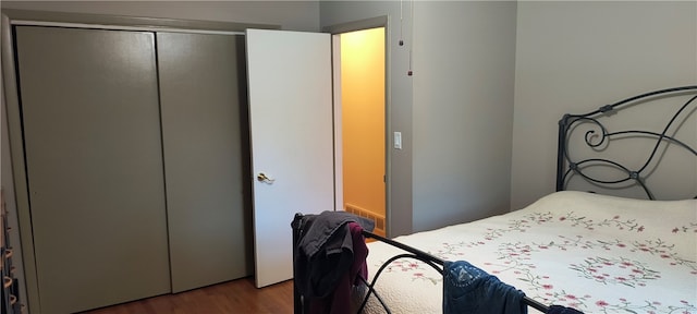
[[[331,39],[261,29],[248,29],[246,39],[260,288],[293,277],[295,213],[334,209]]]

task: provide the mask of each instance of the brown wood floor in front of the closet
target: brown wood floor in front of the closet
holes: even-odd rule
[[[149,298],[85,313],[293,313],[293,280],[257,289],[254,286],[254,278],[247,277],[176,294]]]

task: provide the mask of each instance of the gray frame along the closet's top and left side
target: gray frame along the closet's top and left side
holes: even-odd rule
[[[212,22],[212,21],[189,21],[176,19],[118,16],[106,14],[88,13],[63,13],[32,10],[3,9],[0,14],[0,27],[2,41],[0,43],[0,58],[2,58],[2,90],[4,98],[2,105],[7,109],[7,117],[2,117],[7,122],[10,158],[2,162],[11,162],[12,182],[2,182],[3,185],[11,185],[5,191],[7,203],[11,206],[14,198],[15,208],[8,210],[14,213],[19,224],[20,249],[16,250],[15,264],[21,264],[19,270],[21,285],[20,298],[27,306],[27,311],[41,313],[39,303],[38,276],[36,256],[34,252],[34,237],[32,233],[32,212],[28,195],[28,182],[26,162],[24,155],[24,138],[21,121],[20,90],[17,86],[17,75],[14,56],[14,36],[12,27],[14,25],[34,26],[61,26],[77,28],[119,29],[136,32],[179,32],[179,33],[204,33],[204,34],[244,34],[247,28],[280,29],[280,25]],[[4,136],[4,135],[3,135]],[[12,190],[14,190],[13,195]],[[17,258],[19,257],[19,258]],[[23,274],[22,274],[23,273]]]

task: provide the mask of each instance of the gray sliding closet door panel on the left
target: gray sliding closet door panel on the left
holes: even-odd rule
[[[170,291],[155,38],[16,27],[40,312]]]

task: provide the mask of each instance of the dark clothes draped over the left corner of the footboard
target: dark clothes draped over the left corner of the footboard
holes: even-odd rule
[[[311,313],[347,313],[347,291],[355,276],[367,277],[368,247],[362,230],[372,231],[375,225],[345,212],[323,212],[304,219],[303,234],[294,247],[295,287],[309,301]]]

